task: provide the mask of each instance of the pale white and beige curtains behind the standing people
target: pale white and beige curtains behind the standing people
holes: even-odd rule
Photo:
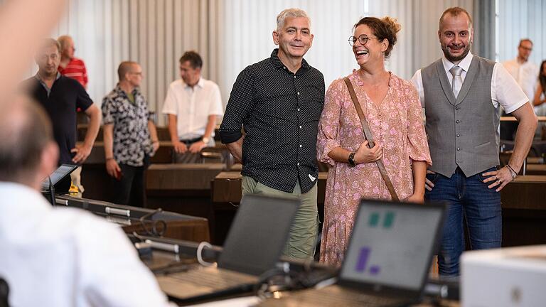
[[[328,86],[358,68],[347,40],[359,18],[398,19],[402,31],[387,69],[409,79],[441,55],[438,19],[449,6],[462,6],[472,14],[473,0],[71,0],[51,35],[73,36],[97,103],[116,84],[122,60],[141,63],[142,91],[150,109],[160,113],[168,84],[178,78],[178,58],[186,50],[203,56],[203,77],[220,85],[226,104],[238,73],[275,48],[272,31],[283,9],[299,7],[311,17],[315,38],[305,58],[323,72]],[[36,67],[28,75],[34,72]],[[163,116],[158,120],[159,125],[166,122]]]

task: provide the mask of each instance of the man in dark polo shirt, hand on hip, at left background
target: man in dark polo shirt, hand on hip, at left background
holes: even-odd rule
[[[59,62],[59,43],[53,38],[45,39],[36,54],[38,73],[23,81],[23,88],[43,106],[53,123],[53,137],[59,146],[59,164],[80,164],[89,156],[95,143],[100,127],[100,110],[79,82],[57,72]],[[76,144],[77,108],[90,118],[81,145]]]

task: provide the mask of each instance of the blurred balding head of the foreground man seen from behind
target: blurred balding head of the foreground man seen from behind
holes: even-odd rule
[[[51,149],[55,144],[52,131],[48,116],[28,97],[0,99],[0,181],[36,188],[38,178],[56,166],[58,149]],[[50,151],[48,165],[43,165],[45,151]]]

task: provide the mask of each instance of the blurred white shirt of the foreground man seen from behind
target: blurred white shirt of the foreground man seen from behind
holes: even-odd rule
[[[168,306],[116,225],[0,182],[0,276],[10,306]]]

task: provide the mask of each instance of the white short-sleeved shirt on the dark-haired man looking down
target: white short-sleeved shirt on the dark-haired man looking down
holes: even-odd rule
[[[195,139],[205,134],[208,116],[224,114],[220,87],[215,82],[199,79],[195,87],[176,80],[168,87],[163,114],[176,115],[178,139]],[[211,135],[214,136],[214,133]]]

